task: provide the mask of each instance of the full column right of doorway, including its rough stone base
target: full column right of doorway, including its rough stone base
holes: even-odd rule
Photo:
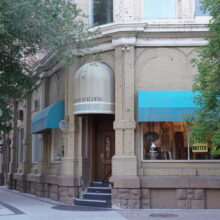
[[[134,130],[135,36],[119,37],[115,44],[115,156],[112,159],[113,205],[139,207]],[[123,192],[122,192],[123,191]]]

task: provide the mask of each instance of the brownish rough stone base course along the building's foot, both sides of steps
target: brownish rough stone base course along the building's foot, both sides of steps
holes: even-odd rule
[[[30,181],[25,176],[10,179],[9,188],[20,192],[47,197],[67,204],[79,197],[79,186],[62,186],[42,183],[39,179]],[[141,188],[112,188],[112,205],[124,209],[177,208],[177,209],[212,209],[220,208],[220,187],[210,188],[175,188],[166,185],[164,188],[142,185]]]

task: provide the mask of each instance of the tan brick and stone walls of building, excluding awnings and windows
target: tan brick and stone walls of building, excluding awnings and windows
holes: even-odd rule
[[[87,11],[88,1],[79,2]],[[191,90],[197,73],[191,60],[197,56],[196,49],[207,44],[208,36],[208,20],[194,18],[191,0],[177,1],[177,19],[155,21],[143,19],[143,2],[114,1],[114,23],[100,27],[100,38],[91,49],[115,75],[115,155],[110,178],[113,206],[220,208],[219,161],[143,161],[137,92]],[[92,61],[97,61],[96,55],[76,56],[74,64],[65,68],[50,59],[40,63],[40,86],[14,107],[9,172],[5,175],[9,188],[71,204],[95,179],[93,137],[89,135],[92,126],[84,126],[85,116],[73,114],[73,76]],[[40,159],[33,161],[31,120],[37,111],[60,99],[65,101],[68,126],[62,132],[44,132]],[[20,109],[24,110],[24,120],[18,120]],[[90,126],[87,133],[86,126]],[[24,157],[17,163],[19,128],[24,129]],[[60,142],[56,141],[59,132]],[[63,155],[56,160],[54,152],[59,147]]]

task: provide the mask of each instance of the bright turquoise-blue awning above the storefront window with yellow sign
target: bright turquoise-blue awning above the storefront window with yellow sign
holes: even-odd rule
[[[138,91],[138,121],[184,121],[198,106],[192,91]]]

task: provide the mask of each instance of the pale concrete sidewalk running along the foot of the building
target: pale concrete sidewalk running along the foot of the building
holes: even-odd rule
[[[0,187],[0,220],[219,220],[220,210],[102,209],[65,205]]]

